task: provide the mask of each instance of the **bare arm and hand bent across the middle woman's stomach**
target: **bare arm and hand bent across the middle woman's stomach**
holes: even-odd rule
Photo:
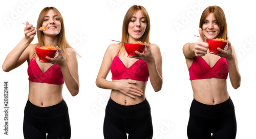
[[[110,72],[111,63],[115,56],[117,48],[118,44],[112,44],[106,50],[99,69],[98,76],[96,78],[96,85],[104,89],[119,90],[122,94],[131,98],[135,98],[134,96],[143,95],[142,90],[133,85],[136,83],[136,81],[124,80],[122,82],[113,82],[106,80],[106,76],[108,76]]]

